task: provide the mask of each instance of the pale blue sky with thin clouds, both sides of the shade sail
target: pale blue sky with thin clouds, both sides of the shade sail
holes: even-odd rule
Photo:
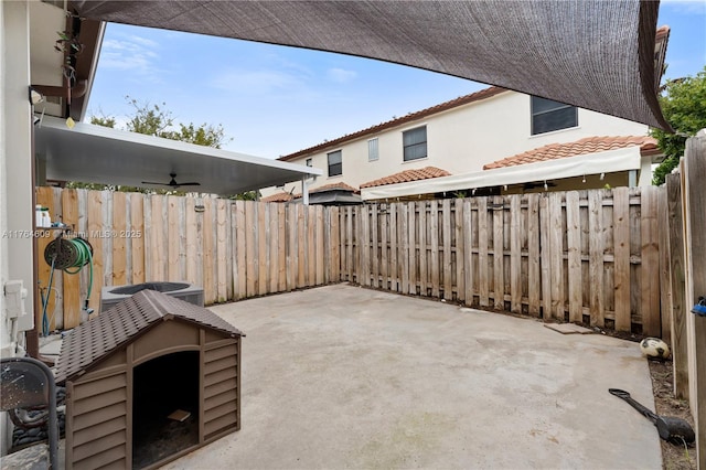
[[[706,65],[706,2],[662,1],[666,77]],[[88,114],[125,121],[140,103],[222,125],[232,151],[277,158],[482,89],[402,65],[295,47],[108,24]]]

